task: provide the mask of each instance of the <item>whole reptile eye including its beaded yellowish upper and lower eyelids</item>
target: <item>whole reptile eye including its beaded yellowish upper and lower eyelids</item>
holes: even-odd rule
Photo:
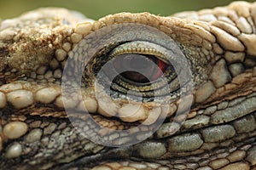
[[[151,100],[179,89],[177,71],[169,61],[170,51],[157,43],[123,42],[98,58],[94,62],[102,66],[93,72],[103,87],[111,88],[107,91],[113,98],[131,94]]]

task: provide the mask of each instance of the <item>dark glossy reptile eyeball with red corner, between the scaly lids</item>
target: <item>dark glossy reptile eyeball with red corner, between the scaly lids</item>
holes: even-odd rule
[[[116,57],[113,66],[121,77],[140,83],[157,80],[166,69],[162,60],[141,54],[121,54]]]

